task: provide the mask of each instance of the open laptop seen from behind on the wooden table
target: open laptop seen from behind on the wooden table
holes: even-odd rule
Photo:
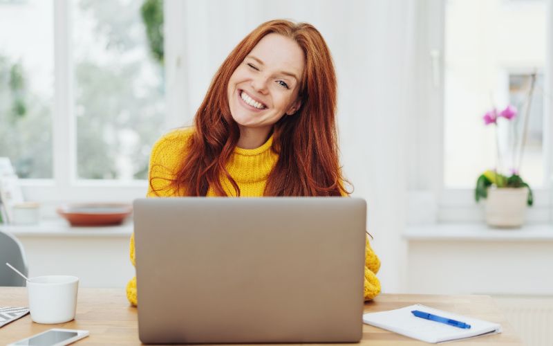
[[[362,338],[363,199],[137,199],[134,231],[142,343]]]

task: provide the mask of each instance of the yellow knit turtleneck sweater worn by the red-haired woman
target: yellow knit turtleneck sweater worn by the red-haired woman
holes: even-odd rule
[[[169,197],[175,194],[169,188],[169,181],[173,177],[174,169],[178,167],[182,151],[193,129],[177,129],[162,136],[153,146],[150,157],[149,176],[159,177],[153,179],[149,185],[147,197]],[[241,197],[261,197],[265,190],[265,183],[269,173],[277,163],[278,155],[271,150],[272,137],[261,147],[256,149],[242,149],[236,147],[229,162],[227,170],[240,188]],[[223,188],[229,196],[235,196],[236,192],[228,179],[222,178]],[[214,197],[214,191],[210,188],[208,197]],[[131,236],[131,262],[135,265],[134,234]],[[365,300],[374,298],[380,293],[380,282],[375,273],[380,268],[380,261],[366,240],[365,257]],[[126,296],[131,304],[137,304],[136,277],[127,284]]]

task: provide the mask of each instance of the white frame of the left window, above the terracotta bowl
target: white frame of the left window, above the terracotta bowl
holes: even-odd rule
[[[53,179],[20,179],[29,201],[57,204],[75,201],[124,201],[144,197],[146,180],[77,179],[77,129],[74,117],[70,0],[54,0],[55,99],[53,106]],[[185,76],[185,2],[164,1],[165,15],[165,129],[185,122],[188,99]],[[151,143],[153,145],[153,143]]]

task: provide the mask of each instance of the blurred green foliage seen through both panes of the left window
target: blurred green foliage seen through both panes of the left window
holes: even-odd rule
[[[76,33],[87,37],[73,42],[77,176],[147,179],[165,116],[163,2],[72,3]],[[25,60],[2,53],[0,156],[10,157],[21,178],[51,178],[53,89],[35,90],[41,83]]]

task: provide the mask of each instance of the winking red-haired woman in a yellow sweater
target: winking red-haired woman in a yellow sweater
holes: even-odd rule
[[[334,66],[317,29],[263,23],[218,69],[194,126],[154,145],[147,196],[346,196],[335,111]],[[379,266],[367,240],[366,300],[380,291]],[[135,278],[126,291],[136,305]]]

